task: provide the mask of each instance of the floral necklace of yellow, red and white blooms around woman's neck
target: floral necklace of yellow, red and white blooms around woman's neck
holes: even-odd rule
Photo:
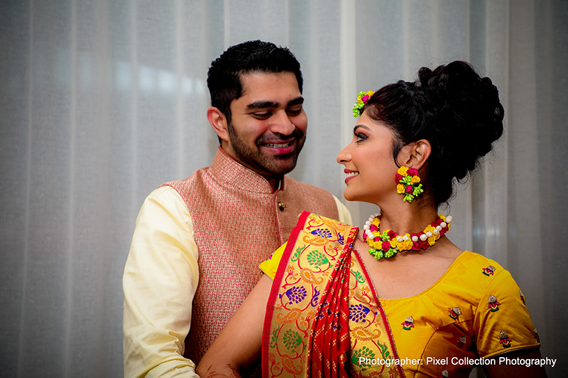
[[[438,215],[438,219],[429,224],[424,231],[398,235],[393,230],[385,230],[382,234],[378,231],[381,225],[381,214],[369,216],[369,220],[363,226],[363,240],[369,244],[369,253],[374,255],[377,260],[381,258],[392,258],[399,251],[420,251],[433,246],[436,240],[440,239],[447,230],[450,230],[452,216]]]

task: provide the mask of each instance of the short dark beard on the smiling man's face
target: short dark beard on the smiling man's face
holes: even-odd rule
[[[266,175],[285,175],[293,170],[296,162],[298,162],[298,155],[304,146],[305,133],[299,129],[294,129],[291,135],[285,136],[283,139],[293,137],[295,139],[295,148],[292,152],[282,155],[272,155],[268,157],[261,151],[261,145],[270,143],[270,140],[265,140],[262,137],[255,141],[256,149],[250,148],[246,145],[240,136],[235,132],[233,125],[228,123],[227,129],[229,130],[229,139],[231,139],[231,146],[235,152],[235,157],[244,162],[260,174]],[[275,164],[275,162],[288,161],[287,164]]]

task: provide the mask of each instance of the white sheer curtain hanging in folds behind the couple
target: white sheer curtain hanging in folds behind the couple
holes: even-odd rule
[[[305,77],[293,176],[341,198],[335,156],[356,93],[456,58],[493,79],[506,134],[452,201],[449,237],[521,286],[568,368],[564,0],[3,1],[0,12],[0,375],[121,377],[121,276],[139,206],[207,166],[206,72],[271,40]],[[371,206],[350,204],[360,224]],[[167,305],[167,304],[164,304]]]

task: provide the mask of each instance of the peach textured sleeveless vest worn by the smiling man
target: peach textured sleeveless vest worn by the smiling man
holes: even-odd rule
[[[302,211],[337,219],[332,195],[284,177],[281,189],[221,148],[213,164],[167,182],[184,198],[199,250],[199,286],[185,357],[199,363],[261,277],[259,264],[286,242]]]

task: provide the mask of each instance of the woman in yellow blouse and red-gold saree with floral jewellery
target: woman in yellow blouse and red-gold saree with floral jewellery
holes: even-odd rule
[[[438,216],[454,178],[467,178],[502,134],[497,88],[456,61],[358,100],[337,162],[345,198],[381,215],[359,230],[302,214],[199,375],[238,376],[262,341],[266,377],[468,377],[475,365],[489,377],[546,376],[506,362],[540,356],[509,272],[455,246],[451,217]]]

